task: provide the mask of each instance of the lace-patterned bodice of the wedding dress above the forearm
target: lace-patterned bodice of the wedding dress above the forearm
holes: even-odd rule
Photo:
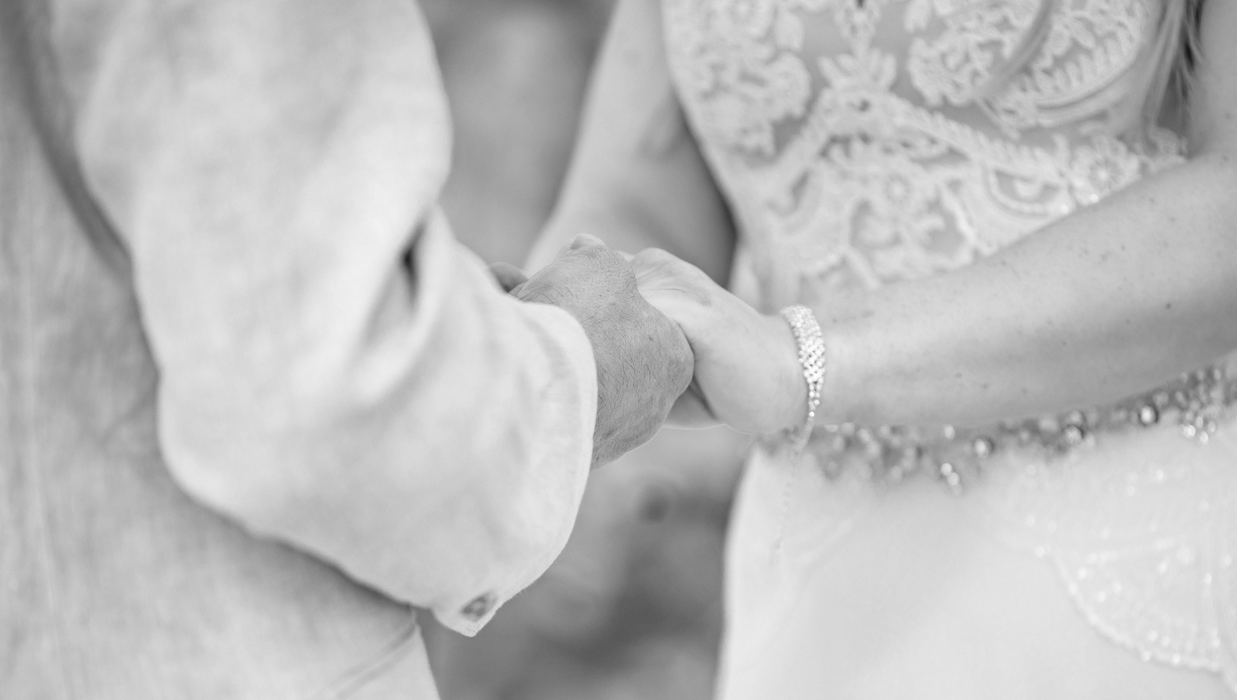
[[[977,96],[1039,1],[668,0],[766,305],[967,265],[1180,158],[1169,131],[1106,129],[1155,0],[1061,2],[1028,68]]]

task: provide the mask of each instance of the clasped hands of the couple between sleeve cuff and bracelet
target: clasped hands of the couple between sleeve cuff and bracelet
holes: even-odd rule
[[[787,323],[663,250],[631,257],[579,236],[532,278],[506,263],[491,271],[515,297],[571,313],[593,343],[594,466],[646,443],[667,418],[756,434],[805,418],[807,385]]]

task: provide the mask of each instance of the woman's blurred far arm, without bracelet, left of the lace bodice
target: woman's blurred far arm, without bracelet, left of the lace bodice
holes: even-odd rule
[[[610,23],[563,192],[524,267],[578,234],[666,249],[725,283],[734,226],[674,96],[658,0],[622,0]]]

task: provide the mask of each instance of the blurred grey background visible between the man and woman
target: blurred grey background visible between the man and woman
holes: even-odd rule
[[[455,122],[443,204],[523,262],[570,157],[612,0],[422,0]],[[713,691],[721,550],[746,439],[663,430],[593,474],[554,566],[476,638],[429,628],[444,700],[696,700]]]

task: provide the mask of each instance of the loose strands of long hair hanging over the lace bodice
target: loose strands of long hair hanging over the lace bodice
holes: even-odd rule
[[[990,0],[1001,2],[1004,0]],[[1155,126],[1164,101],[1173,90],[1185,96],[1190,88],[1195,63],[1199,61],[1199,17],[1204,0],[1160,0],[1160,12],[1153,23],[1154,33],[1147,41],[1131,68],[1133,99],[1113,111],[1112,127],[1128,135],[1145,134]],[[1014,79],[1039,53],[1051,31],[1051,17],[1061,0],[1043,0],[1034,20],[1009,57],[997,66],[981,85],[978,96],[991,98]],[[1138,100],[1138,96],[1142,100]]]

